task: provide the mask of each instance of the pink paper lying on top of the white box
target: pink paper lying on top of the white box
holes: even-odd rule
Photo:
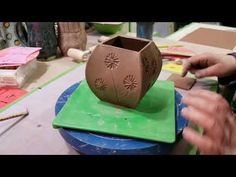
[[[10,47],[0,51],[1,66],[20,66],[36,58],[41,48]]]

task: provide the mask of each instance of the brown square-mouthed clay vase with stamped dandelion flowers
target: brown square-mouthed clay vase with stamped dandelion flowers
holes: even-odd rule
[[[153,41],[116,36],[94,49],[85,76],[100,100],[135,108],[157,80],[161,67],[161,53]]]

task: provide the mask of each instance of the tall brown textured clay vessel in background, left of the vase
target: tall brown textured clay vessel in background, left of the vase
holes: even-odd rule
[[[87,34],[80,22],[59,22],[58,40],[61,53],[66,56],[70,48],[86,49]]]

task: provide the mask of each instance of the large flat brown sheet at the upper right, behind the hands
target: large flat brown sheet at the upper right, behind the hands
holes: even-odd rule
[[[180,41],[232,50],[236,46],[236,32],[210,28],[199,28]]]

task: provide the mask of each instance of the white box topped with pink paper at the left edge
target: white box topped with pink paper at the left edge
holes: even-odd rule
[[[21,88],[37,69],[39,50],[32,47],[0,50],[0,87]]]

